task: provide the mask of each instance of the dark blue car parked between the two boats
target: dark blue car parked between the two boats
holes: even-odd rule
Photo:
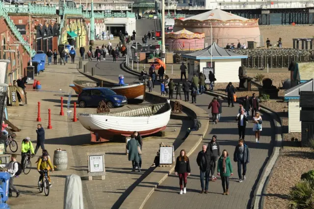
[[[79,107],[98,106],[103,100],[109,108],[128,104],[125,96],[117,95],[109,88],[83,88],[82,92],[78,95]]]

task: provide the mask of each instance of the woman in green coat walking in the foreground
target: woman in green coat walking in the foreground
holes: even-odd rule
[[[222,189],[224,195],[229,195],[229,177],[233,176],[231,160],[227,150],[222,151],[217,163],[217,175],[221,177]]]

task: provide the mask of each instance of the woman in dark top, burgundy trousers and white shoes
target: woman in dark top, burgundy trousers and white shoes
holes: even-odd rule
[[[185,194],[187,176],[191,174],[190,160],[186,156],[185,150],[181,150],[180,156],[177,157],[176,166],[175,166],[175,174],[179,175],[180,194]]]

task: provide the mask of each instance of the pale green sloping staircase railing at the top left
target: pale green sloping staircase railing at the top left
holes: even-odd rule
[[[30,48],[30,46],[26,45],[27,42],[25,41],[25,39],[23,38],[23,36],[19,32],[18,28],[13,23],[13,21],[10,19],[8,13],[4,9],[4,4],[2,2],[0,2],[0,16],[2,16],[4,18],[5,22],[10,27],[11,31],[16,36],[18,41],[22,43],[22,45],[26,49],[26,51],[30,54],[31,57],[33,57],[36,54],[36,52],[34,50],[32,50]]]

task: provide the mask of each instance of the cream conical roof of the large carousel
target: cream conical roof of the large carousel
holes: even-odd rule
[[[220,20],[220,21],[230,21],[230,20],[239,20],[239,21],[247,21],[244,17],[240,17],[229,12],[225,12],[220,9],[213,9],[208,12],[194,15],[192,17],[185,18],[186,20],[198,20],[198,21],[205,21],[205,20]]]

